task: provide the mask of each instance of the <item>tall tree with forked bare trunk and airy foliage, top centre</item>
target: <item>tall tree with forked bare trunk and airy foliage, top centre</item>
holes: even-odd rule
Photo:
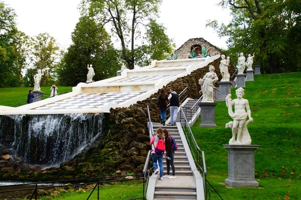
[[[141,32],[145,31],[145,27],[152,26],[149,22],[157,17],[161,3],[162,0],[83,0],[82,11],[88,10],[94,20],[110,27],[111,33],[120,40],[123,60],[129,69],[133,69],[136,59],[141,60],[147,58],[144,54],[149,55],[149,44],[144,44],[147,41]],[[135,41],[141,45],[136,45]]]

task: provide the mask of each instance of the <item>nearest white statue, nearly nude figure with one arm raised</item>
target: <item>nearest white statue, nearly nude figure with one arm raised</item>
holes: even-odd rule
[[[226,97],[226,106],[228,107],[228,113],[233,119],[233,122],[226,124],[226,128],[232,128],[232,138],[229,140],[230,145],[250,145],[251,137],[247,129],[249,122],[253,121],[251,117],[251,111],[249,106],[249,101],[242,98],[244,96],[244,89],[238,88],[236,90],[237,99],[232,100],[231,94]],[[235,112],[232,111],[232,106],[234,105]],[[246,121],[247,117],[249,120]],[[235,137],[237,135],[237,139]]]

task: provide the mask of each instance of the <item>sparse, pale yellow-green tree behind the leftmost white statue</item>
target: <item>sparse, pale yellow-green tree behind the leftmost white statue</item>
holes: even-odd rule
[[[51,85],[55,81],[55,68],[60,59],[60,47],[48,33],[42,33],[32,38],[31,61],[35,69],[45,70],[41,79],[42,85]]]

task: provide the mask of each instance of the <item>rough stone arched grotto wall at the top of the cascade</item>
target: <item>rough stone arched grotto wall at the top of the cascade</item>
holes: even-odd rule
[[[175,51],[175,53],[178,55],[178,59],[186,59],[187,53],[189,53],[187,51],[187,49],[190,50],[190,48],[192,46],[195,45],[200,45],[202,48],[205,46],[206,48],[212,47],[211,51],[210,51],[210,55],[211,56],[215,56],[215,55],[220,55],[220,54],[224,54],[224,52],[222,50],[220,50],[219,48],[217,48],[216,46],[210,44],[209,42],[207,42],[206,40],[204,40],[203,38],[192,38],[189,39],[186,43],[184,43],[179,49],[177,49]],[[198,50],[198,49],[197,49]],[[197,51],[196,50],[196,51]],[[201,48],[199,48],[198,51],[201,51]]]

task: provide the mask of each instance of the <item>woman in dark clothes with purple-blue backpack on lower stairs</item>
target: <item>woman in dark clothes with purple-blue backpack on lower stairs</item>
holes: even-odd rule
[[[172,136],[169,135],[168,130],[164,129],[163,130],[165,134],[165,150],[166,150],[166,170],[167,173],[164,175],[164,178],[176,178],[175,176],[175,164],[174,164],[174,155],[175,155],[175,150],[173,149],[173,138]],[[172,166],[173,170],[173,175],[170,176],[170,167]]]

